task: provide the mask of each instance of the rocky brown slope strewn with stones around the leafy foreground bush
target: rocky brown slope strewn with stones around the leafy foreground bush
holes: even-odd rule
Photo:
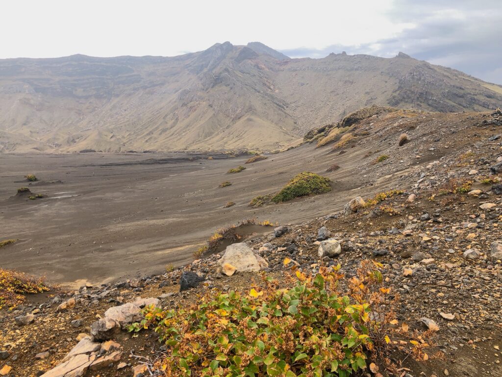
[[[397,370],[381,369],[383,375],[498,376],[501,127],[500,111],[383,109],[359,119],[346,131],[353,138],[344,145],[333,140],[320,148],[306,146],[323,151],[324,168],[341,165],[333,172],[339,174],[334,187],[343,184],[346,172],[340,159],[360,148],[350,174],[362,184],[346,190],[345,206],[336,211],[325,206],[322,216],[249,235],[165,273],[28,298],[0,317],[0,375],[157,375],[153,364],[163,351],[157,335],[124,331],[141,320],[141,307],[184,307],[212,289],[248,292],[263,284],[262,271],[282,280],[291,269],[315,273],[321,265],[340,263],[349,278],[361,260],[374,259],[384,266],[403,331],[429,336],[426,360],[416,360],[398,348],[400,339],[392,339],[389,347],[396,349],[390,358]],[[398,146],[403,132],[408,140]],[[306,200],[322,207],[323,198],[338,194]]]

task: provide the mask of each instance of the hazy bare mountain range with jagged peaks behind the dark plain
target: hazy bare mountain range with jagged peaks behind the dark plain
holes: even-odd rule
[[[502,104],[502,86],[403,53],[290,59],[259,42],[3,59],[0,151],[278,149],[372,104],[486,111]]]

